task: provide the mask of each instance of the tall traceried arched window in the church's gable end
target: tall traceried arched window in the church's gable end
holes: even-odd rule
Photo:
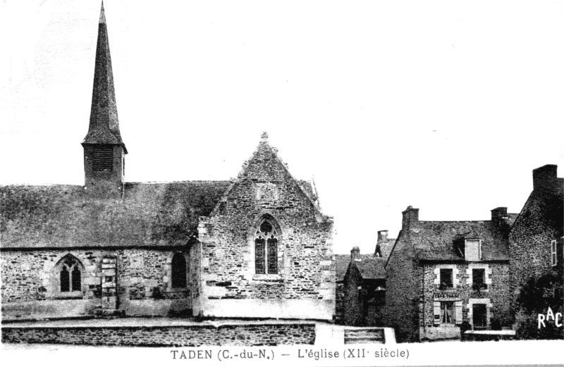
[[[255,273],[278,274],[278,232],[270,219],[255,232]]]

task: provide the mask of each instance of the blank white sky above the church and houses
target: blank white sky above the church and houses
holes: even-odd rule
[[[100,2],[5,1],[0,183],[84,180]],[[564,167],[563,1],[106,0],[128,181],[228,180],[262,131],[335,251],[520,211]]]

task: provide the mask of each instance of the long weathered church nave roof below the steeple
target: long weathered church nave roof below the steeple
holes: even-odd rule
[[[90,199],[78,185],[0,187],[0,247],[181,246],[228,181],[125,184],[121,200]]]

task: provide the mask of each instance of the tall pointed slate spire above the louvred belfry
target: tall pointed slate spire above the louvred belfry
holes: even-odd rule
[[[103,1],[98,23],[90,126],[85,139],[82,141],[82,145],[84,144],[118,144],[123,147],[125,154],[128,152],[119,132],[114,75],[111,70],[110,46]]]

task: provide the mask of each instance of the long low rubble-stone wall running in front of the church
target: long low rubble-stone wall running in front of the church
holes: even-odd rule
[[[315,324],[3,327],[3,343],[200,347],[314,344]]]

